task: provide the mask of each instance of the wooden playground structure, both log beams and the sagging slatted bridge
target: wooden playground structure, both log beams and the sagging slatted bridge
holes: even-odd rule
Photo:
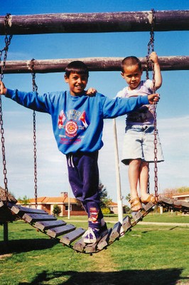
[[[97,14],[45,14],[7,17],[6,25],[4,17],[0,16],[1,34],[33,34],[33,33],[102,33],[102,32],[129,32],[151,31],[153,23],[152,11],[121,12],[121,13],[97,13]],[[154,31],[186,31],[189,29],[189,11],[156,11]],[[90,71],[119,71],[122,58],[75,58],[84,61]],[[140,58],[144,70],[146,58]],[[72,59],[54,59],[43,61],[6,61],[6,73],[31,73],[33,66],[35,73],[63,72],[65,66]],[[162,71],[188,70],[189,56],[159,57]],[[149,67],[151,70],[151,66]],[[5,153],[5,152],[4,152]],[[5,187],[5,191],[8,189]],[[158,205],[179,212],[189,212],[188,203],[177,202],[173,199],[160,199]],[[106,249],[110,244],[119,239],[127,231],[131,230],[137,222],[150,212],[154,205],[143,205],[140,212],[134,214],[133,219],[126,216],[123,222],[117,222],[112,229],[95,244],[84,244],[82,239],[77,240],[85,229],[76,229],[72,224],[58,221],[40,209],[26,209],[18,207],[6,201],[0,202],[0,214],[4,210],[16,214],[18,218],[38,228],[49,237],[58,239],[59,242],[74,249],[76,252],[95,253]],[[7,223],[4,222],[4,231]],[[8,234],[4,234],[4,237]],[[75,240],[77,240],[75,242]],[[72,244],[75,242],[75,244]]]

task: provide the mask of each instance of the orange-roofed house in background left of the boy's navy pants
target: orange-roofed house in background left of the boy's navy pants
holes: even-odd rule
[[[38,209],[43,209],[48,214],[53,214],[53,207],[57,204],[60,209],[60,217],[68,216],[68,204],[70,199],[70,215],[72,216],[84,216],[87,213],[83,209],[82,204],[75,198],[69,198],[68,192],[61,192],[60,197],[38,197]],[[21,204],[17,202],[17,204]],[[29,199],[26,207],[35,208],[35,199]]]

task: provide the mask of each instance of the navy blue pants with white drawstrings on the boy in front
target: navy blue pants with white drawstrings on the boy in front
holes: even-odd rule
[[[102,211],[99,206],[98,152],[76,152],[66,155],[68,177],[75,198],[88,214],[89,227],[99,228]]]

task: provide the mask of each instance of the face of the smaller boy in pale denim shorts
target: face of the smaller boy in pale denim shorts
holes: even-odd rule
[[[139,86],[141,75],[142,71],[138,64],[134,66],[124,66],[124,73],[121,72],[121,76],[125,79],[131,90]]]

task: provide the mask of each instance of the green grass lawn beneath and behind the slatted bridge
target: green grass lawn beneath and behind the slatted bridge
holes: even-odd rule
[[[112,227],[117,217],[106,220]],[[148,214],[144,222],[168,224],[137,224],[107,250],[92,256],[57,244],[23,221],[9,224],[5,250],[0,226],[0,284],[189,284],[189,227],[182,224],[189,222],[189,216]],[[87,227],[86,217],[71,217],[69,223]]]

